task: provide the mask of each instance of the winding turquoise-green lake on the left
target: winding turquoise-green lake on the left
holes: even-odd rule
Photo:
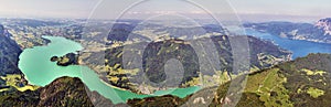
[[[200,87],[194,86],[188,88],[158,90],[151,95],[138,95],[129,90],[118,89],[105,84],[99,79],[95,71],[87,66],[57,66],[56,63],[50,61],[52,56],[63,56],[67,53],[75,53],[83,50],[83,46],[79,43],[61,36],[43,38],[50,40],[51,43],[44,46],[26,49],[20,55],[19,68],[25,75],[29,84],[45,86],[58,77],[78,77],[90,90],[98,92],[100,95],[110,99],[114,104],[126,103],[126,100],[131,98],[145,98],[162,95],[174,95],[182,98],[200,90]]]

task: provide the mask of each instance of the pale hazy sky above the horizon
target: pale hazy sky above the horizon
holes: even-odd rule
[[[116,18],[120,12],[139,0],[0,0],[0,17],[14,18]],[[148,4],[136,7],[132,13],[151,11],[185,11],[200,13],[194,8],[179,3],[179,0],[149,0]],[[204,9],[216,13],[228,11],[238,13],[242,19],[263,19],[261,17],[309,19],[331,17],[330,0],[192,0]],[[99,2],[99,4],[98,4]],[[227,10],[231,7],[233,10]],[[93,10],[95,9],[94,13]],[[225,11],[224,11],[225,10]],[[109,15],[111,14],[111,15]],[[329,15],[330,14],[330,15]],[[295,19],[293,19],[295,20]]]

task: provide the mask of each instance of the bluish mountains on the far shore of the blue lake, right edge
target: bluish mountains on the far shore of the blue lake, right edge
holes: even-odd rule
[[[270,33],[280,38],[331,43],[331,18],[311,23],[263,22],[245,23],[245,28]]]

